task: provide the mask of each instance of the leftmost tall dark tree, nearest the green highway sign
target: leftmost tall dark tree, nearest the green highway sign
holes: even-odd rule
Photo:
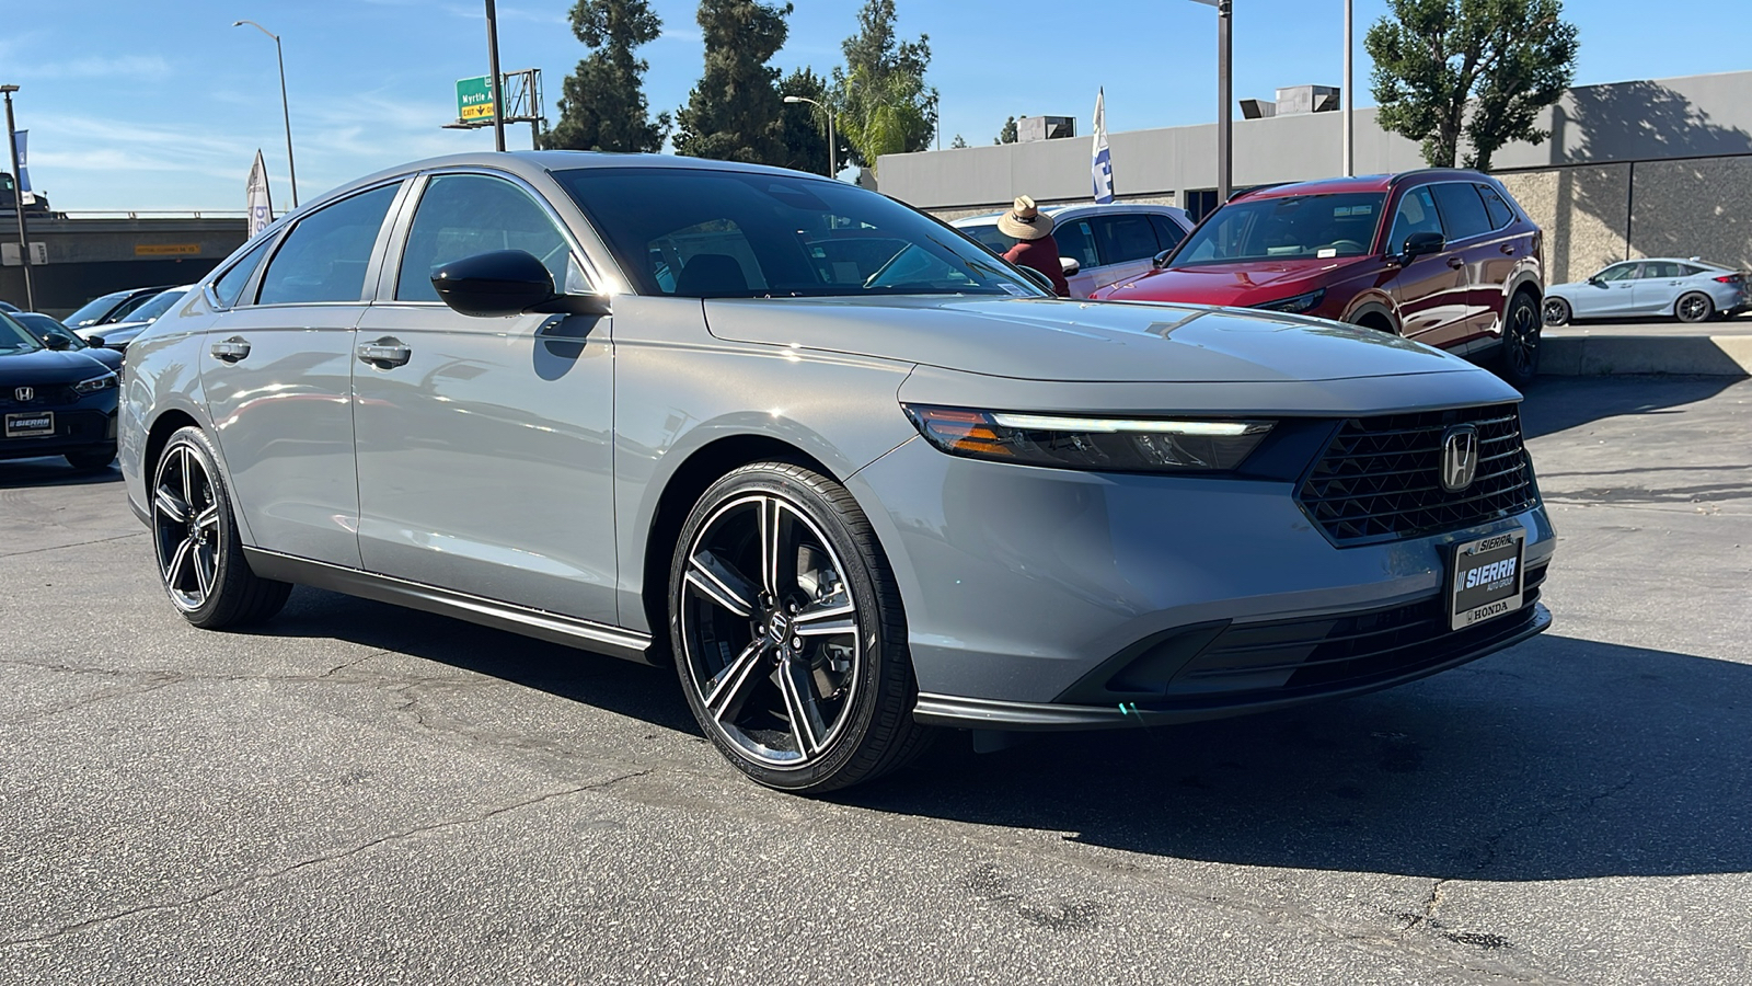
[[[561,86],[559,125],[541,137],[545,147],[582,151],[661,151],[669,114],[648,118],[645,70],[632,49],[657,40],[662,21],[648,0],[578,0],[571,33],[594,49]]]

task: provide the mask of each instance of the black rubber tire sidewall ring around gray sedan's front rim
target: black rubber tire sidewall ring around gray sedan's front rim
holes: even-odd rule
[[[694,504],[687,521],[682,525],[682,535],[676,539],[675,554],[669,560],[669,644],[675,654],[676,674],[682,681],[682,691],[687,695],[687,704],[694,712],[694,719],[699,723],[701,732],[706,733],[706,739],[710,739],[725,758],[736,763],[738,768],[760,784],[787,791],[808,791],[815,788],[837,786],[832,782],[836,774],[839,774],[839,770],[860,753],[860,747],[871,735],[871,725],[876,719],[881,698],[880,689],[885,679],[885,661],[904,660],[904,656],[890,653],[895,642],[890,639],[888,628],[895,621],[897,614],[885,611],[881,602],[883,593],[876,586],[876,579],[887,577],[887,574],[876,575],[871,572],[865,553],[858,547],[848,530],[846,518],[843,518],[841,509],[815,489],[816,482],[827,484],[832,481],[815,475],[813,472],[806,474],[806,477],[808,479],[799,477],[780,463],[759,463],[743,467],[713,482],[711,488],[708,488]],[[685,640],[682,639],[682,593],[689,549],[692,547],[694,539],[699,537],[704,523],[720,505],[748,493],[780,497],[794,509],[808,516],[820,533],[830,542],[829,547],[834,549],[841,565],[846,568],[841,575],[851,589],[851,598],[857,604],[858,612],[874,614],[872,619],[862,621],[862,661],[848,718],[841,725],[839,733],[834,737],[827,751],[804,767],[781,768],[753,760],[718,732],[699,697],[699,686],[694,682],[692,661],[687,656]]]

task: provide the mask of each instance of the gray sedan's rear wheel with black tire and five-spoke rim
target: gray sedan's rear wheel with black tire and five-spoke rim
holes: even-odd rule
[[[182,428],[165,442],[147,488],[158,581],[182,618],[203,630],[261,623],[293,591],[249,568],[217,461],[200,428]]]

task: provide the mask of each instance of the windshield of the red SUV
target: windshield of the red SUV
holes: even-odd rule
[[[1174,254],[1174,267],[1237,260],[1361,256],[1375,240],[1379,191],[1232,202]]]

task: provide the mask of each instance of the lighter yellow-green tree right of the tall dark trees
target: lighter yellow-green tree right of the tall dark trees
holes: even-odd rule
[[[937,89],[925,86],[930,37],[899,40],[894,19],[894,0],[864,0],[858,33],[839,46],[846,67],[834,68],[836,119],[853,165],[923,151],[937,133]]]

